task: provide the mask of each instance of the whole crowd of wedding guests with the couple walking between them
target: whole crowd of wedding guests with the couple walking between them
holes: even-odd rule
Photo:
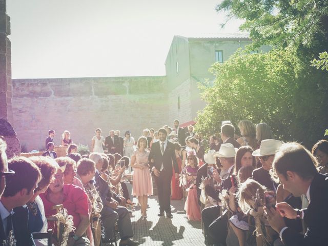
[[[187,219],[201,221],[206,245],[328,242],[328,141],[318,141],[310,152],[273,139],[265,123],[241,120],[241,136],[223,121],[220,134],[207,142],[193,126],[185,130],[178,120],[173,125],[145,129],[137,141],[130,131],[123,138],[111,130],[105,138],[96,129],[91,153],[83,156],[68,131],[61,139],[65,157],[54,152],[54,130],[43,156],[7,160],[1,138],[0,241],[14,237],[17,246],[47,245],[33,233],[52,229],[56,244],[59,229],[49,218],[65,208],[74,227],[69,246],[106,245],[115,227],[119,245],[138,245],[132,239],[132,196],[147,219],[154,179],[158,216],[172,218],[170,200],[184,199]],[[126,170],[133,171],[132,191],[122,178]]]

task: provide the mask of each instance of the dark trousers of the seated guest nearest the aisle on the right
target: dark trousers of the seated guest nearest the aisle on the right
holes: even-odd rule
[[[215,244],[216,240],[209,232],[210,225],[220,216],[220,206],[212,206],[201,211],[204,237],[208,244]],[[213,230],[213,227],[211,228]]]

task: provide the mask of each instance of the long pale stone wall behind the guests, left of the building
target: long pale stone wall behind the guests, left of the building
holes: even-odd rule
[[[96,128],[107,136],[170,124],[165,76],[13,79],[13,125],[27,150],[45,148],[48,130],[55,145],[64,130],[76,144],[91,145]]]

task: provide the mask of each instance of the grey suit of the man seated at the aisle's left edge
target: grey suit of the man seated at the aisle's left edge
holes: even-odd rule
[[[107,206],[106,204],[108,203],[108,200],[112,197],[108,183],[100,177],[98,172],[95,174],[95,181],[97,191],[99,192],[99,196],[104,204],[104,208],[101,210],[100,214],[101,220],[104,222],[105,226],[106,239],[109,240],[112,238],[116,221],[119,235],[122,240],[133,237],[133,229],[128,209],[121,206],[112,209]]]

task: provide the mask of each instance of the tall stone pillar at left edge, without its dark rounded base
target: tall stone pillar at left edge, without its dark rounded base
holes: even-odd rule
[[[11,106],[11,48],[10,18],[6,13],[6,0],[0,0],[0,118],[13,121]]]

